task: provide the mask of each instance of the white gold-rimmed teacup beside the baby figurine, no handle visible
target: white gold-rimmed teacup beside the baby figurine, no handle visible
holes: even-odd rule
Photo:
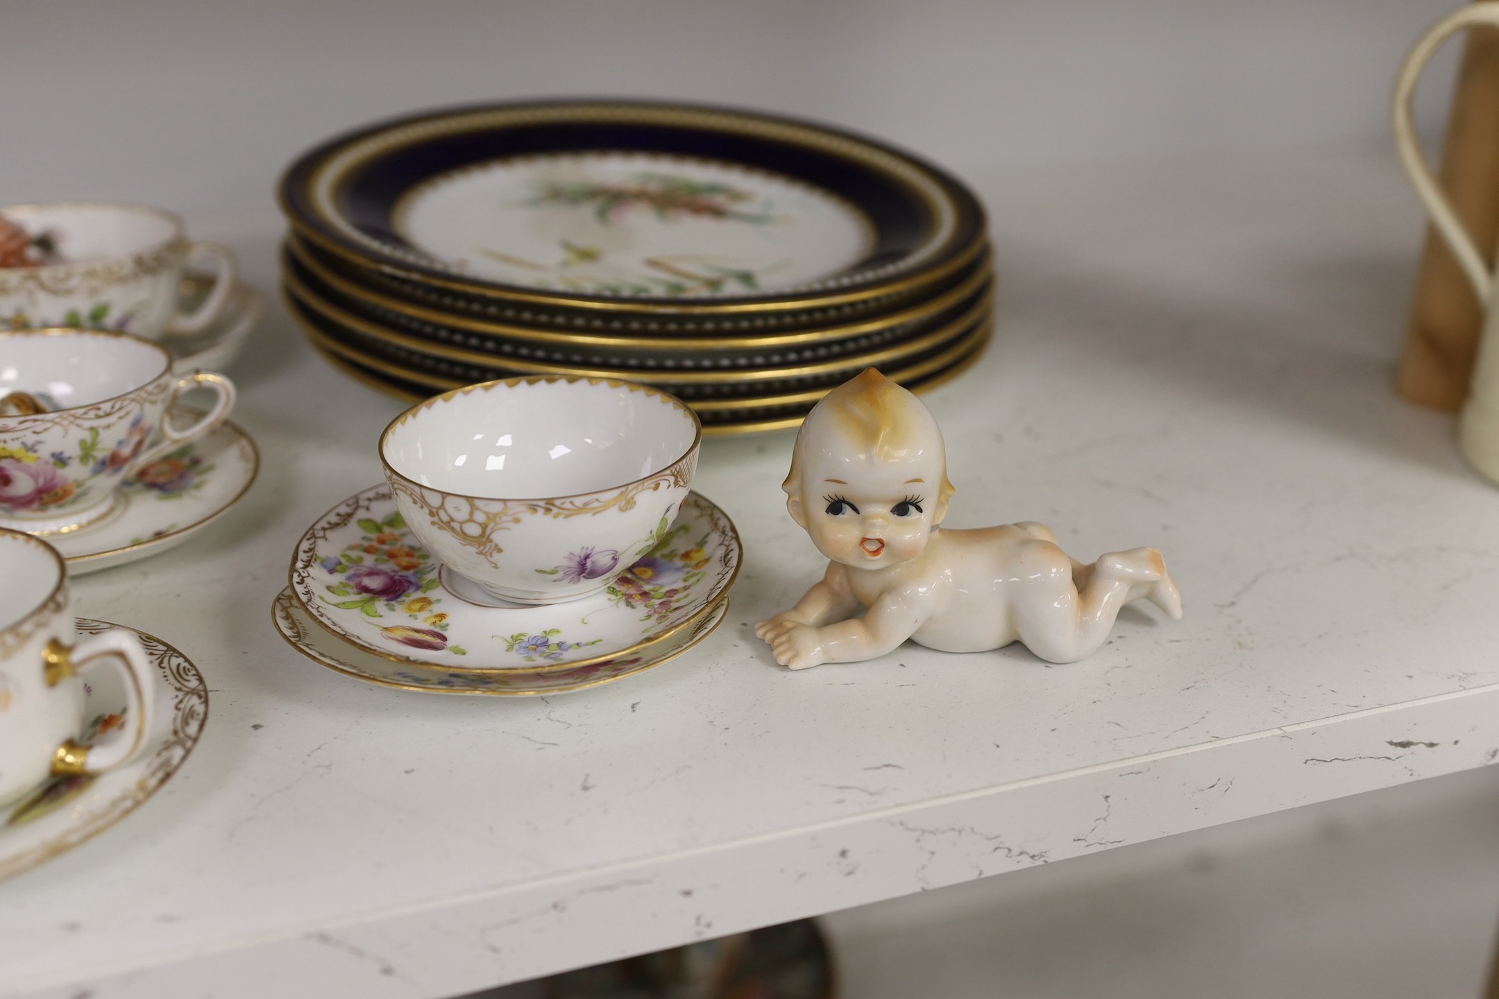
[[[559,604],[603,590],[651,550],[688,494],[700,443],[697,415],[658,389],[529,376],[408,409],[379,452],[450,589],[462,596],[466,580],[501,601]]]

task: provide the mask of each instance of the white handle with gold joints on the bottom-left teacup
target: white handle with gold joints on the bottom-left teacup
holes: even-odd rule
[[[75,675],[82,665],[100,656],[109,656],[114,662],[123,664],[127,680],[124,711],[126,716],[135,719],[135,732],[129,740],[111,738],[94,746],[85,746],[73,738],[63,741],[52,752],[52,773],[57,776],[103,773],[129,762],[145,746],[145,735],[156,720],[156,698],[151,696],[157,683],[154,669],[145,658],[141,641],[123,629],[88,635],[73,646],[64,646],[55,640],[48,643],[42,653],[46,686],[57,686]]]

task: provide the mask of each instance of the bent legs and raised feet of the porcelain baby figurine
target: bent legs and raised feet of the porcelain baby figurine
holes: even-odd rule
[[[1048,662],[1076,662],[1108,641],[1120,608],[1141,598],[1172,619],[1181,617],[1181,593],[1154,548],[1103,556],[1082,590],[1049,601],[1031,601],[1021,610],[1021,641]]]

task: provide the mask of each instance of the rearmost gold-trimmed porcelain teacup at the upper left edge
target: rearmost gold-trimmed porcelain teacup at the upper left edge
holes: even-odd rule
[[[145,205],[55,202],[0,208],[0,219],[43,240],[61,262],[0,268],[0,330],[88,327],[148,340],[196,334],[234,292],[234,255],[189,240],[181,219]],[[178,288],[189,264],[208,264],[213,291],[189,313]]]

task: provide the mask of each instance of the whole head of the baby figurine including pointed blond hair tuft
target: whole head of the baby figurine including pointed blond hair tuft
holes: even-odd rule
[[[880,569],[919,556],[946,517],[946,472],[937,421],[871,368],[808,413],[784,484],[785,505],[824,556]]]

